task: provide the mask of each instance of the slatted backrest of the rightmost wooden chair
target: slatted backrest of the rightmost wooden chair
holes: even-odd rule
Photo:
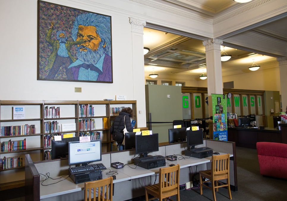
[[[212,175],[225,174],[229,175],[229,154],[213,155],[211,158]]]

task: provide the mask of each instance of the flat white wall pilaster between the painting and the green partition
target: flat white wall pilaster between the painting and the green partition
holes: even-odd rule
[[[143,27],[146,21],[130,17],[132,32],[133,99],[137,101],[138,127],[146,127],[146,96],[144,82]]]

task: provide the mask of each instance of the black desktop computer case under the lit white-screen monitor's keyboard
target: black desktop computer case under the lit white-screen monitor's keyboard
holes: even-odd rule
[[[93,172],[75,173],[75,174],[69,172],[69,177],[73,180],[73,182],[75,182],[75,184],[84,183],[88,181],[95,181],[102,179],[102,171],[97,170]]]

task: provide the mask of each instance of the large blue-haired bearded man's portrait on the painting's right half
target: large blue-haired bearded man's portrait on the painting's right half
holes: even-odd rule
[[[112,82],[111,18],[95,13],[77,16],[72,38],[83,40],[76,48],[77,60],[68,67],[74,80]]]

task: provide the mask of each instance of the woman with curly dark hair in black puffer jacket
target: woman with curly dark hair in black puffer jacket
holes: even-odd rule
[[[113,125],[110,128],[110,134],[114,135],[116,133],[116,130],[118,130],[121,133],[124,133],[124,125],[126,126],[126,129],[128,132],[133,132],[133,127],[131,124],[131,121],[133,120],[133,110],[130,107],[126,107],[122,109],[122,111],[119,113],[119,115],[115,118],[115,121],[113,122]],[[117,142],[118,148],[120,150],[124,150],[124,145],[122,145],[123,141]]]

